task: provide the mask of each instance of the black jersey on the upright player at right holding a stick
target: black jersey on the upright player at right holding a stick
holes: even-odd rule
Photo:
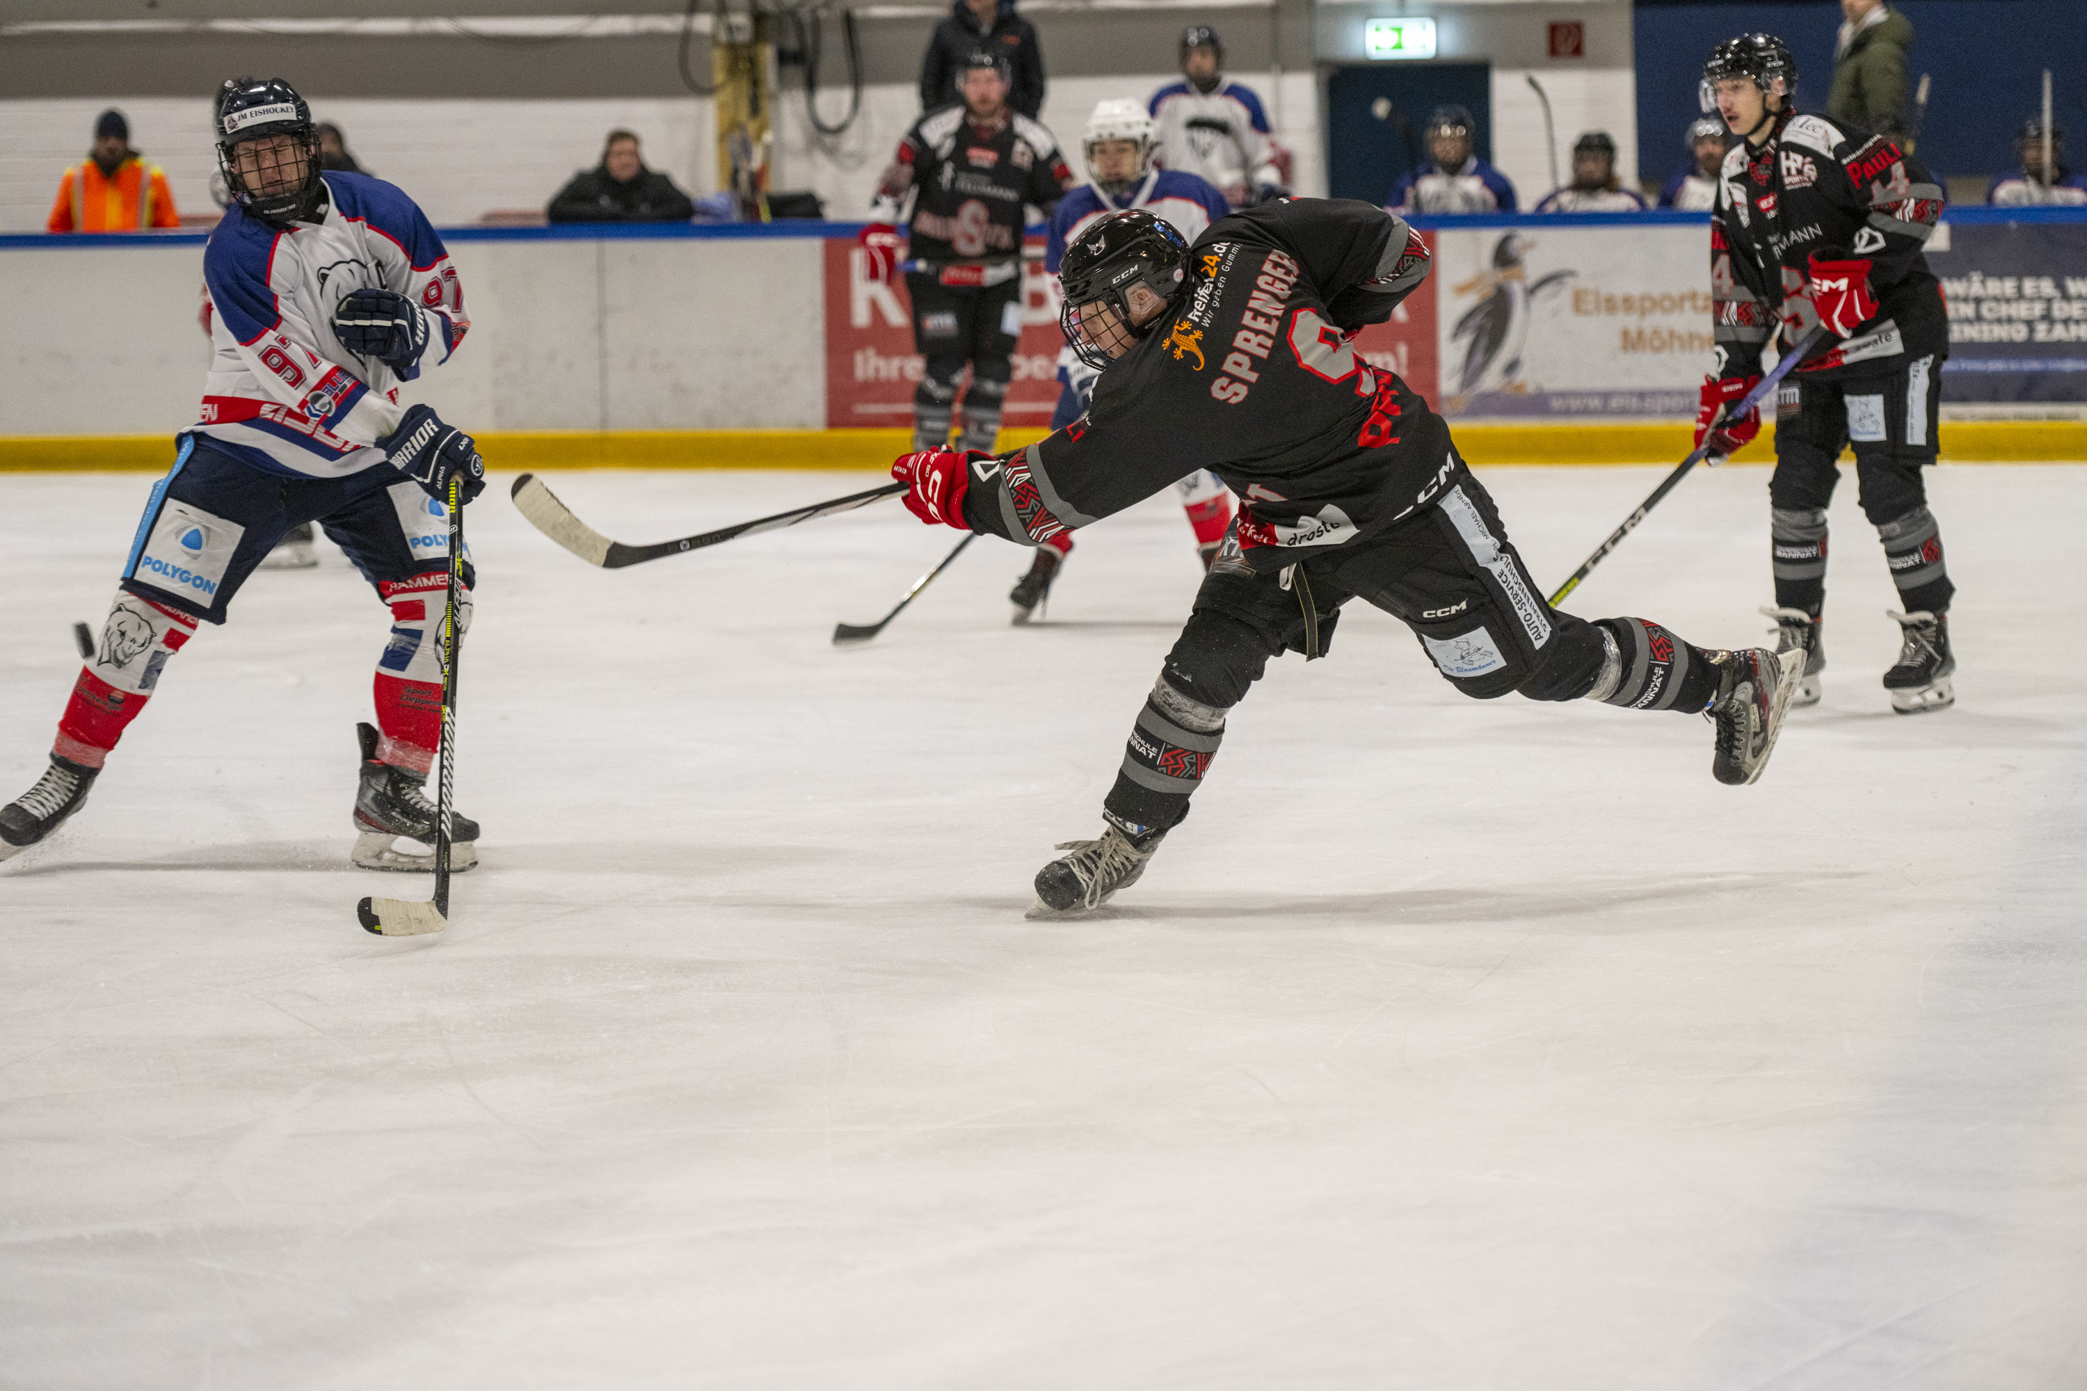
[[[1759,148],[1732,146],[1711,219],[1711,296],[1718,375],[1761,369],[1782,327],[1789,348],[1818,323],[1809,259],[1868,263],[1878,311],[1805,375],[1866,375],[1949,352],[1941,286],[1922,246],[1943,213],[1943,190],[1889,136],[1826,117],[1782,117]]]

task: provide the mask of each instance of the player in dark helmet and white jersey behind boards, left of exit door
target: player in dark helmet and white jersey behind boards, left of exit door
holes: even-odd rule
[[[1194,173],[1240,209],[1288,192],[1288,154],[1269,133],[1269,115],[1252,88],[1223,73],[1225,42],[1210,25],[1181,33],[1183,81],[1152,94],[1162,169]]]

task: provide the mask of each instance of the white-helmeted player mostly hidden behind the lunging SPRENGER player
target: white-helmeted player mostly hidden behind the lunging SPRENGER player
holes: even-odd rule
[[[1194,242],[1210,223],[1231,211],[1225,196],[1194,173],[1154,167],[1154,146],[1152,115],[1140,102],[1127,98],[1096,102],[1087,117],[1087,129],[1081,133],[1087,181],[1060,198],[1052,211],[1050,234],[1044,240],[1046,271],[1058,275],[1064,248],[1108,213],[1146,209]],[[1087,413],[1087,400],[1094,396],[1094,382],[1100,375],[1073,350],[1073,344],[1058,350],[1058,409],[1052,413],[1052,430],[1064,430]],[[1181,509],[1196,532],[1196,553],[1208,569],[1217,546],[1225,540],[1225,528],[1231,526],[1231,494],[1208,469],[1196,469],[1183,478],[1175,484],[1175,492],[1181,496]],[[1029,574],[1008,594],[1014,603],[1016,624],[1027,624],[1041,611],[1052,580],[1058,578],[1058,569],[1071,553],[1071,532],[1037,546]]]

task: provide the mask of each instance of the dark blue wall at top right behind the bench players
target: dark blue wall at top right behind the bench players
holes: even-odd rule
[[[1920,73],[1933,75],[1920,158],[1939,177],[2014,169],[2014,131],[2043,102],[2066,127],[2079,171],[2087,158],[2087,0],[1891,0],[1914,25],[1908,100]],[[1680,169],[1682,129],[1701,115],[1697,81],[1703,56],[1734,33],[1776,33],[1797,54],[1797,106],[1824,111],[1832,86],[1832,40],[1841,6],[1672,4],[1638,0],[1632,31],[1638,54],[1638,167],[1661,179]]]

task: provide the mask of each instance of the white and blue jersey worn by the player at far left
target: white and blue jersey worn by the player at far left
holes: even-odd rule
[[[196,434],[290,478],[384,463],[371,444],[405,413],[399,384],[447,363],[472,325],[457,267],[411,198],[361,173],[321,177],[319,221],[280,229],[234,204],[202,250],[217,357]],[[428,315],[428,352],[403,377],[334,336],[351,290],[397,290]]]

